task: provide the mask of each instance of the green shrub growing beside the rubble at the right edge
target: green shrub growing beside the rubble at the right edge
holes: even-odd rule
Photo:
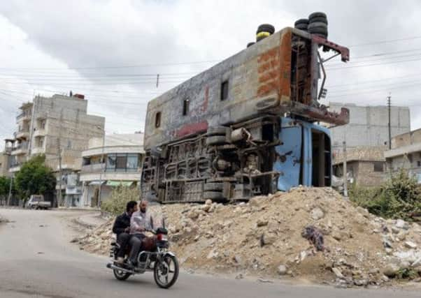
[[[352,186],[350,200],[385,218],[411,221],[414,214],[421,214],[420,188],[416,179],[403,170],[380,187]]]

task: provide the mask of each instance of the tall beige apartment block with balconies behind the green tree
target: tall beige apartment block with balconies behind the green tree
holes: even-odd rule
[[[37,154],[45,155],[45,164],[57,175],[60,161],[64,174],[77,172],[89,140],[104,135],[105,118],[87,114],[87,100],[80,94],[36,96],[19,109],[16,131],[5,140],[5,153],[10,153],[9,174],[19,171],[24,161]],[[65,182],[64,177],[61,179]],[[62,184],[63,195],[65,190],[66,184]]]

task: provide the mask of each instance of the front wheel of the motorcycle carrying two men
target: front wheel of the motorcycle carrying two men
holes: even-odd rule
[[[153,277],[159,288],[168,289],[178,278],[178,260],[172,255],[166,255],[155,262]]]

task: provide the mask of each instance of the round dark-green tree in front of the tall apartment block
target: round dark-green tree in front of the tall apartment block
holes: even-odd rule
[[[44,164],[45,156],[35,156],[23,163],[16,174],[17,191],[26,201],[30,195],[45,195],[55,191],[56,179],[50,167]]]

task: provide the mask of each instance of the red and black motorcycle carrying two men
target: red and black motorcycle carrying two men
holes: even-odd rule
[[[176,255],[169,251],[168,231],[163,224],[162,228],[148,230],[148,232],[153,235],[142,240],[142,250],[136,258],[136,267],[127,267],[129,249],[123,264],[117,264],[117,254],[120,251],[120,245],[117,242],[111,243],[111,262],[107,264],[107,267],[113,270],[115,278],[119,281],[125,281],[134,274],[153,271],[155,283],[159,288],[168,289],[176,283],[179,273]]]

